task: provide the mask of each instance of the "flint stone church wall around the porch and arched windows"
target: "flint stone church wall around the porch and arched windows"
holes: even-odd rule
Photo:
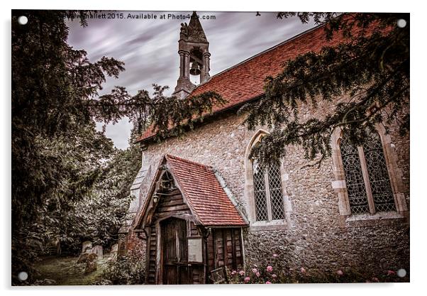
[[[302,117],[326,114],[331,108],[320,102],[318,109],[304,111]],[[256,131],[242,125],[244,117],[223,115],[216,121],[196,128],[180,138],[148,144],[143,165],[150,164],[150,173],[140,187],[139,207],[143,204],[162,155],[165,153],[211,165],[221,173],[228,188],[249,211],[249,194],[245,192],[245,150]],[[390,127],[392,145],[404,183],[409,209],[409,136],[401,137],[397,126]],[[409,270],[409,219],[364,220],[343,222],[338,211],[338,194],[331,182],[331,158],[317,166],[309,164],[300,147],[289,146],[282,172],[289,177],[284,192],[289,198],[286,211],[289,221],[280,230],[244,231],[246,263],[270,263],[272,254],[284,267],[334,270],[353,268],[362,273],[383,274],[384,270]],[[132,245],[128,238],[128,244]]]

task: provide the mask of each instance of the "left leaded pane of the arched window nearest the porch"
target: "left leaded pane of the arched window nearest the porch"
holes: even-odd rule
[[[252,168],[255,195],[255,214],[257,216],[257,221],[266,221],[268,219],[268,215],[264,170],[260,169],[256,161],[253,162]]]

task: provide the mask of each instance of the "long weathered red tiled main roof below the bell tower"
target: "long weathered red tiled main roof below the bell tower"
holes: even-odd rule
[[[211,80],[200,84],[190,95],[207,91],[221,94],[228,103],[214,106],[212,110],[214,114],[238,106],[264,94],[265,77],[278,75],[283,69],[284,62],[298,55],[310,51],[318,52],[324,46],[334,46],[344,41],[345,38],[340,33],[334,34],[332,40],[326,40],[323,26],[312,28],[212,76]],[[152,136],[155,136],[155,132],[148,128],[137,141],[144,141]]]

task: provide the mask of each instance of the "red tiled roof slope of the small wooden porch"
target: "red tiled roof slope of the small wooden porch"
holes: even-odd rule
[[[214,169],[172,155],[167,166],[177,180],[193,214],[204,226],[245,226],[233,202],[216,178]]]

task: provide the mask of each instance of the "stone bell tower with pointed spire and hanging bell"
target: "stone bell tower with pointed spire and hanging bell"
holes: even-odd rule
[[[193,11],[189,24],[181,24],[178,41],[179,78],[174,95],[184,99],[196,87],[190,80],[190,75],[199,76],[199,82],[209,80],[209,42],[196,11]]]

